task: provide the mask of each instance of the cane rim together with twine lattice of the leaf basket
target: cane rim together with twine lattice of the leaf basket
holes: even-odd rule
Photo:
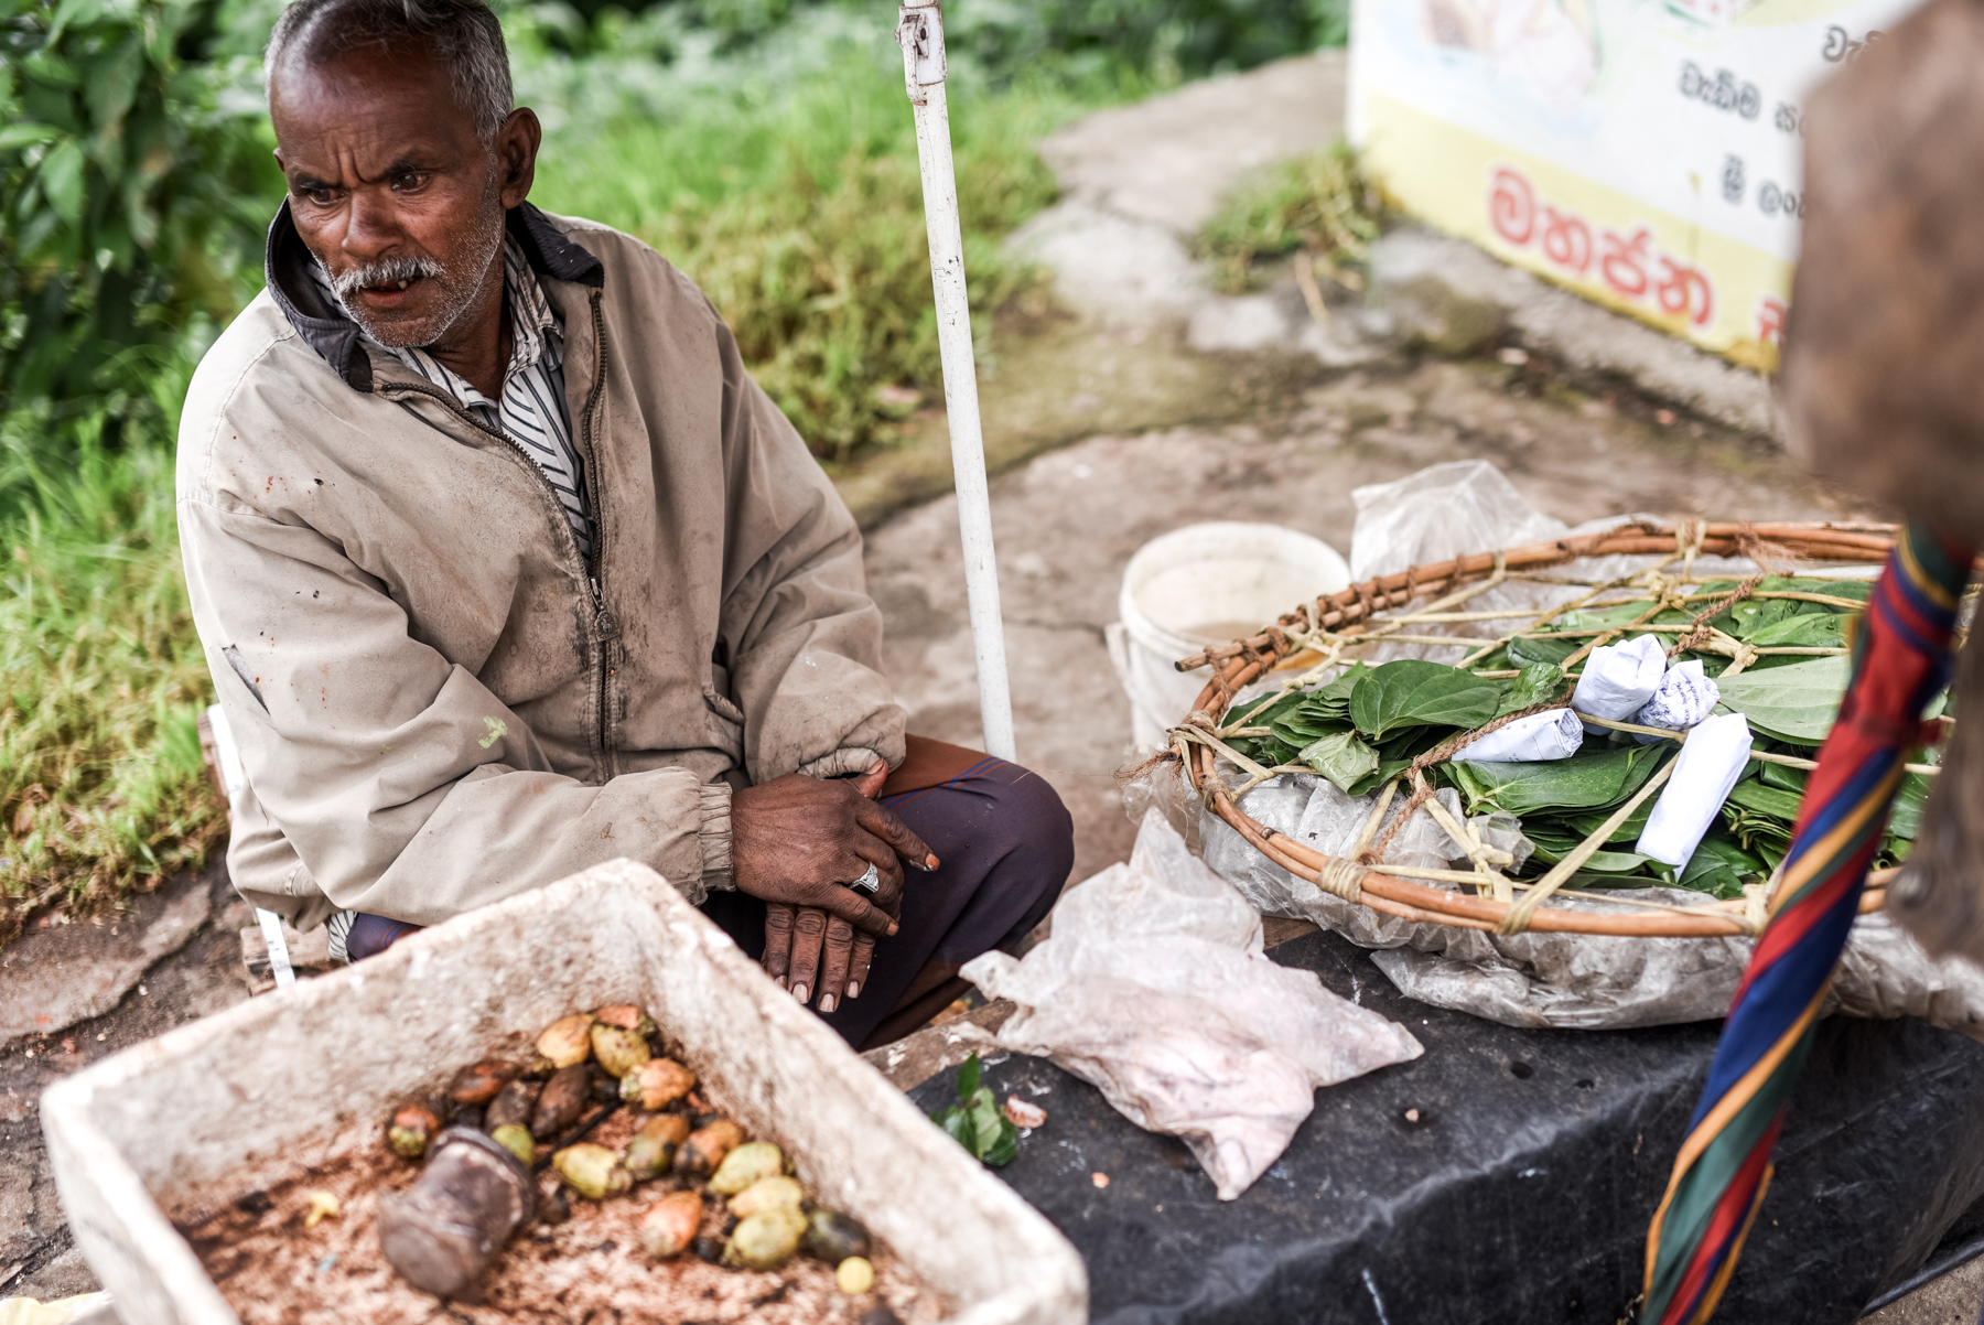
[[[1428,565],[1415,565],[1397,575],[1381,575],[1339,593],[1303,603],[1284,615],[1276,625],[1254,637],[1232,641],[1216,649],[1178,661],[1178,670],[1212,666],[1212,678],[1192,706],[1190,716],[1173,728],[1173,752],[1184,764],[1184,776],[1202,801],[1232,825],[1256,851],[1319,889],[1345,901],[1371,906],[1373,910],[1401,916],[1405,920],[1428,920],[1462,928],[1478,928],[1500,934],[1524,930],[1573,932],[1573,934],[1619,934],[1619,936],[1682,936],[1708,938],[1726,934],[1756,934],[1764,922],[1764,903],[1768,889],[1750,885],[1742,899],[1704,901],[1700,904],[1669,904],[1607,893],[1569,891],[1563,885],[1599,851],[1645,801],[1655,795],[1673,774],[1674,762],[1665,762],[1637,791],[1625,799],[1611,815],[1567,855],[1563,855],[1540,879],[1510,879],[1502,873],[1512,865],[1506,851],[1498,851],[1482,841],[1480,833],[1446,811],[1432,795],[1425,770],[1460,754],[1470,742],[1516,718],[1540,708],[1559,706],[1538,704],[1532,710],[1504,714],[1472,732],[1462,732],[1452,740],[1428,750],[1413,760],[1413,766],[1385,783],[1377,803],[1359,833],[1353,859],[1331,857],[1286,833],[1258,823],[1246,813],[1242,801],[1248,791],[1280,774],[1313,774],[1305,764],[1262,766],[1232,746],[1232,740],[1248,734],[1248,728],[1222,726],[1236,696],[1270,672],[1298,672],[1282,690],[1313,686],[1335,672],[1345,662],[1345,653],[1377,643],[1389,645],[1430,645],[1456,649],[1464,657],[1456,666],[1472,668],[1510,641],[1540,637],[1542,627],[1550,627],[1567,613],[1579,609],[1617,609],[1633,603],[1647,603],[1647,609],[1631,621],[1599,625],[1595,629],[1557,629],[1550,639],[1579,641],[1573,653],[1561,662],[1565,680],[1577,672],[1573,668],[1593,651],[1625,635],[1673,637],[1669,657],[1682,651],[1714,653],[1730,662],[1722,676],[1736,676],[1754,666],[1758,659],[1772,655],[1827,657],[1845,655],[1843,647],[1754,647],[1732,639],[1710,625],[1732,605],[1744,599],[1801,599],[1827,607],[1857,609],[1859,599],[1790,589],[1760,589],[1764,575],[1752,575],[1734,589],[1728,575],[1712,577],[1718,587],[1702,589],[1704,579],[1696,577],[1700,557],[1746,557],[1772,573],[1780,573],[1799,561],[1803,563],[1849,563],[1879,565],[1895,543],[1895,526],[1839,526],[1839,524],[1710,524],[1682,520],[1676,524],[1635,522],[1589,534],[1565,538],[1528,547],[1504,551],[1484,551]],[[1647,563],[1635,571],[1611,579],[1567,579],[1546,575],[1550,567],[1561,567],[1585,557],[1641,555]],[[1867,577],[1873,577],[1869,569]],[[1504,583],[1550,583],[1577,589],[1567,601],[1548,609],[1526,611],[1464,611],[1470,601]],[[1625,597],[1621,597],[1625,595]],[[1430,601],[1423,601],[1428,599]],[[1684,611],[1682,625],[1657,625],[1663,613]],[[1512,631],[1498,635],[1417,635],[1413,627],[1454,627],[1516,621]],[[1478,670],[1484,678],[1516,676],[1512,670]],[[1258,710],[1256,710],[1258,712]],[[1609,722],[1579,714],[1585,722],[1621,732],[1637,732],[1663,740],[1686,740],[1684,732],[1637,726],[1631,722]],[[1752,758],[1786,764],[1790,768],[1815,768],[1811,760],[1798,756],[1754,750]],[[1242,774],[1234,787],[1218,774],[1218,764],[1226,762]],[[1907,766],[1909,772],[1932,774],[1928,766]],[[1409,795],[1393,829],[1407,821],[1421,805],[1434,823],[1452,839],[1454,857],[1466,857],[1472,869],[1419,869],[1409,865],[1385,865],[1387,841],[1379,837],[1379,827],[1405,783]],[[1389,837],[1389,833],[1387,833]],[[1885,885],[1895,871],[1875,871],[1867,883],[1861,910],[1879,910],[1885,904]],[[1460,889],[1430,887],[1472,885],[1472,893]],[[1522,893],[1522,897],[1516,897]],[[1613,903],[1619,910],[1569,910],[1548,906],[1551,897],[1575,897],[1583,901]]]

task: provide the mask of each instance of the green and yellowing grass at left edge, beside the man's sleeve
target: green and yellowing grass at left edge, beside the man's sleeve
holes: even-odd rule
[[[46,411],[0,421],[0,940],[36,904],[198,865],[226,831],[196,718],[206,664],[179,567],[171,421],[188,365],[149,375],[151,424],[97,411],[60,462]]]

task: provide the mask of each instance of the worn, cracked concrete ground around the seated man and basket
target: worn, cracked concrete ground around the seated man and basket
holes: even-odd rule
[[[1125,563],[1167,530],[1266,520],[1347,551],[1355,486],[1474,456],[1567,522],[1865,514],[1782,454],[1756,379],[1434,236],[1387,240],[1373,296],[1331,292],[1323,321],[1288,274],[1242,298],[1206,290],[1184,240],[1220,192],[1339,125],[1341,65],[1313,58],[1109,111],[1044,149],[1063,202],[1016,244],[1054,272],[1052,300],[1002,315],[982,377],[1020,758],[1073,811],[1077,881],[1129,849],[1113,778],[1129,704],[1103,627]],[[841,488],[869,528],[911,730],[978,744],[944,436],[930,415]],[[171,942],[54,926],[0,954],[0,1295],[93,1287],[42,1154],[40,1089],[248,996],[248,914],[222,869],[175,881],[157,910],[177,916]],[[83,1020],[32,1024],[81,984],[93,994],[67,1018]],[[1962,1269],[1871,1319],[1968,1323],[1980,1299],[1984,1271]]]

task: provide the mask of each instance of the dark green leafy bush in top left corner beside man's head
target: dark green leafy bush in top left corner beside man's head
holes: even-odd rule
[[[115,438],[133,347],[252,290],[280,175],[266,117],[200,63],[220,0],[0,0],[0,405]],[[119,397],[117,391],[123,391]],[[111,395],[105,395],[111,393]]]

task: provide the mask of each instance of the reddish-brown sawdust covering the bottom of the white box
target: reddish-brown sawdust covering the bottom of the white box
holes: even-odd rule
[[[623,1109],[589,1141],[621,1148],[635,1115]],[[294,1168],[294,1166],[292,1166]],[[220,1184],[210,1200],[186,1200],[171,1214],[242,1325],[413,1325],[440,1313],[434,1297],[407,1285],[379,1252],[373,1212],[381,1192],[413,1186],[421,1166],[385,1150],[377,1129],[341,1137],[323,1158],[268,1186]],[[554,1178],[540,1174],[550,1194]],[[339,1202],[335,1218],[308,1228],[311,1192]],[[478,1305],[448,1303],[446,1317],[498,1321],[762,1321],[809,1325],[859,1321],[887,1303],[905,1325],[940,1319],[936,1293],[919,1289],[903,1264],[875,1248],[875,1291],[843,1295],[833,1267],[796,1256],[778,1271],[724,1269],[684,1252],[651,1262],[637,1224],[661,1196],[641,1184],[605,1202],[571,1198],[571,1220],[534,1224],[510,1242],[484,1275]],[[702,1232],[720,1238],[722,1198],[704,1204]]]

